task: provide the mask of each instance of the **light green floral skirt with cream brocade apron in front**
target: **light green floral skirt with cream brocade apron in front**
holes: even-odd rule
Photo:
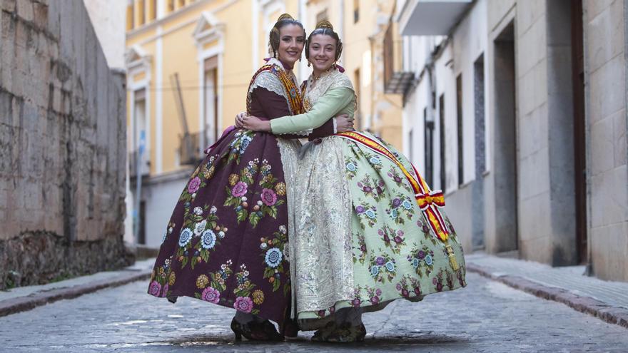
[[[380,142],[412,170],[405,156]],[[392,300],[465,287],[462,247],[447,215],[441,209],[456,269],[402,170],[385,156],[339,136],[308,143],[295,190],[290,247],[302,329],[322,327],[341,308],[370,312]]]

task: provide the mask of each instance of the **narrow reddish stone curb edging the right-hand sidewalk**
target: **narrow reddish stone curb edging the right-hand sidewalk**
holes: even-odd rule
[[[523,277],[513,275],[495,275],[487,268],[474,265],[469,262],[467,262],[467,270],[475,272],[483,277],[490,278],[491,280],[502,282],[505,285],[530,293],[536,297],[562,303],[572,307],[572,309],[576,309],[579,312],[590,314],[610,324],[618,324],[619,326],[628,329],[628,309],[624,309],[622,307],[612,307],[591,297],[575,295],[563,288],[541,285]]]

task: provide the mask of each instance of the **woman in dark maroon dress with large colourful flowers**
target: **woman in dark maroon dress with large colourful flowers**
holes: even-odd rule
[[[250,81],[247,111],[270,119],[303,112],[292,72],[303,26],[282,15],[270,31],[273,58]],[[335,133],[330,120],[313,137]],[[238,312],[236,339],[283,339],[290,312],[288,218],[298,136],[226,131],[191,175],[166,227],[148,293],[195,297]],[[303,137],[303,136],[301,136]],[[292,139],[290,139],[292,138]],[[280,332],[268,320],[277,322]],[[289,332],[292,331],[292,332]]]

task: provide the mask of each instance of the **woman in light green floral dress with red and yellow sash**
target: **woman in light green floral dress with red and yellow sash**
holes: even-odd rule
[[[336,66],[342,43],[327,21],[305,46],[313,73],[303,83],[306,113],[238,126],[307,135],[332,116],[355,111],[351,81]],[[303,146],[295,181],[290,270],[295,315],[313,340],[365,337],[363,312],[392,300],[466,285],[462,247],[442,207],[409,160],[370,133],[347,132]]]

